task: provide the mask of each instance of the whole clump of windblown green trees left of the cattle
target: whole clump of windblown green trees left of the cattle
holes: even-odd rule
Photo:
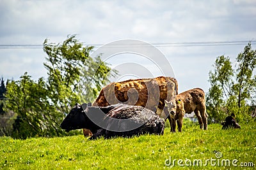
[[[47,78],[34,81],[25,73],[20,80],[8,81],[6,111],[17,114],[14,138],[65,135],[60,123],[71,107],[81,101],[81,96],[83,102],[92,101],[109,77],[116,74],[100,57],[90,57],[92,49],[79,43],[76,36],[68,36],[58,44],[45,39]],[[85,89],[79,90],[79,85]]]

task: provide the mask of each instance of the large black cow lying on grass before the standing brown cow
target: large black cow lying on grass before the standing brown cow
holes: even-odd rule
[[[75,129],[90,129],[89,139],[131,137],[140,134],[163,134],[164,120],[156,113],[141,106],[115,104],[107,107],[92,107],[76,104],[61,123],[67,132]]]

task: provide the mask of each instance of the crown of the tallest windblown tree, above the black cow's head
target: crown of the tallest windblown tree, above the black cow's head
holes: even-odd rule
[[[47,53],[44,66],[49,74],[48,89],[53,92],[51,99],[58,96],[53,101],[56,106],[60,103],[73,106],[79,101],[78,97],[83,102],[92,102],[102,87],[109,83],[110,76],[117,73],[100,56],[95,59],[90,57],[93,46],[83,47],[76,36],[68,36],[63,43],[58,44],[48,41],[44,41],[44,52]]]

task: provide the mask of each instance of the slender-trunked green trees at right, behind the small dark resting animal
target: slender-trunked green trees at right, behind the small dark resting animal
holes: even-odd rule
[[[207,112],[210,119],[217,122],[227,115],[235,113],[237,120],[247,120],[255,106],[256,50],[251,43],[244,47],[236,58],[236,67],[232,67],[229,57],[221,55],[209,72],[211,88],[207,93]]]

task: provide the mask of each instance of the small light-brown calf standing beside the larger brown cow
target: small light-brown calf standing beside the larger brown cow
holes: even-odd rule
[[[207,113],[205,107],[205,94],[202,89],[191,89],[173,96],[170,101],[165,101],[171,117],[177,120],[178,130],[181,132],[185,113],[195,112],[200,129],[207,130]],[[172,124],[175,125],[175,124]],[[172,127],[175,132],[175,126]]]

